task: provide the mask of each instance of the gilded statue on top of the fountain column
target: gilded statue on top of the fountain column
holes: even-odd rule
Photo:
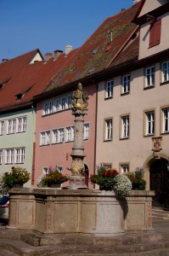
[[[87,96],[87,92],[82,90],[82,84],[78,83],[77,84],[77,90],[73,91],[72,94],[72,105],[73,108],[87,108],[87,100],[88,100],[88,96]]]

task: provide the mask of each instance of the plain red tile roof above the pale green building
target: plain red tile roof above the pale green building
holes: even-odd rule
[[[28,60],[37,51],[19,56],[1,64],[1,81],[8,82],[0,90],[0,111],[11,108],[21,108],[32,103],[33,96],[42,93],[48,83],[58,73],[60,68],[64,68],[67,61],[75,54],[72,50],[68,56],[59,55],[57,60],[54,58],[49,61],[38,61],[27,65]],[[10,72],[9,72],[10,71]],[[24,96],[17,100],[17,96]],[[5,99],[5,100],[4,100]]]

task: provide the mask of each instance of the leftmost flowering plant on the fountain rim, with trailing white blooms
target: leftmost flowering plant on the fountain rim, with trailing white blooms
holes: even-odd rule
[[[23,187],[23,184],[30,180],[30,173],[20,166],[13,166],[11,172],[4,172],[1,177],[2,194],[7,194],[8,189],[13,187]]]

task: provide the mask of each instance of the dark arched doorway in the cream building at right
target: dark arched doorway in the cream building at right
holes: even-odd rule
[[[149,166],[150,190],[155,191],[153,207],[169,211],[169,171],[168,161],[165,159],[154,160]]]

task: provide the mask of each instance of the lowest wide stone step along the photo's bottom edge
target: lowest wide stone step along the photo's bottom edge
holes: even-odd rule
[[[144,237],[144,236],[143,236]],[[133,238],[133,237],[132,237]],[[138,238],[138,240],[137,240]],[[150,241],[146,240],[148,238],[144,237],[140,242],[140,237],[136,236],[136,239],[129,239],[123,243],[121,237],[121,244],[111,243],[110,241],[106,243],[105,241],[101,244],[58,244],[54,246],[37,246],[33,247],[24,241],[0,239],[0,251],[7,250],[6,256],[8,255],[24,255],[24,256],[99,256],[99,255],[169,255],[169,240],[162,239],[155,241],[153,237],[149,237]],[[113,241],[113,239],[112,239]],[[134,243],[131,243],[133,242]],[[158,251],[160,254],[155,254]],[[168,254],[161,254],[161,252]],[[2,251],[3,252],[3,251]],[[9,254],[9,253],[13,254]],[[164,253],[163,252],[163,253]],[[141,253],[141,254],[140,254]],[[145,253],[145,254],[144,254]],[[146,254],[147,253],[147,254]],[[151,253],[151,254],[150,254]],[[1,255],[1,253],[0,253]]]

